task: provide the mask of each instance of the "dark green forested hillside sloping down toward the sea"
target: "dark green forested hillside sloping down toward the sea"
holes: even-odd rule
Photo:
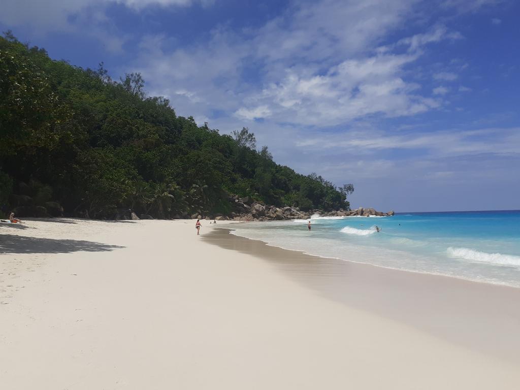
[[[145,95],[139,74],[113,81],[102,64],[51,60],[10,33],[0,38],[0,137],[4,214],[226,214],[230,194],[331,210],[353,190],[276,164],[247,128],[222,135],[177,116]]]

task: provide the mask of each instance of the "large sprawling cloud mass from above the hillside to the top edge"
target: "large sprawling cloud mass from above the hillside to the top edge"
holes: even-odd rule
[[[134,70],[154,93],[172,98],[179,114],[185,107],[190,113],[225,110],[242,120],[323,126],[373,114],[414,115],[440,103],[421,96],[420,85],[405,79],[405,68],[425,45],[457,35],[437,26],[377,49],[414,4],[323,0],[297,5],[245,35],[216,29],[209,42],[190,49],[167,51],[164,37],[148,36]],[[393,53],[403,47],[406,54]],[[258,64],[263,67],[259,83],[241,79],[243,67]],[[196,91],[200,100],[193,105],[175,99],[170,85]]]

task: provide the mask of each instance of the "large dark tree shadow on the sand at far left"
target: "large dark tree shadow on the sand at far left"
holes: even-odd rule
[[[125,248],[124,246],[80,240],[54,240],[13,235],[0,235],[0,253],[72,253],[102,252]]]

